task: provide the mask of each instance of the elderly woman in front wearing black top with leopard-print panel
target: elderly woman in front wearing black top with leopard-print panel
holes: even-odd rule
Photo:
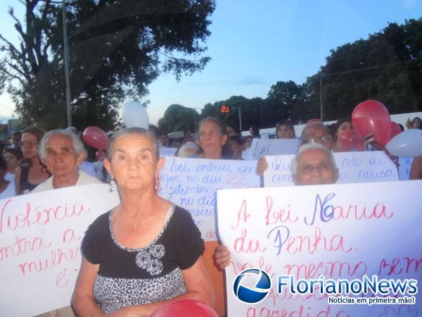
[[[104,165],[121,203],[85,234],[72,297],[78,316],[149,316],[179,299],[214,304],[198,228],[187,211],[158,197],[163,163],[149,132],[112,137]]]

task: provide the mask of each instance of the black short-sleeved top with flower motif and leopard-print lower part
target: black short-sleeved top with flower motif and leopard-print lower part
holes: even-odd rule
[[[82,241],[85,259],[100,265],[94,297],[101,309],[108,314],[186,292],[181,270],[190,268],[204,251],[191,214],[173,205],[158,236],[140,249],[124,247],[116,240],[112,215],[109,211],[99,216]]]

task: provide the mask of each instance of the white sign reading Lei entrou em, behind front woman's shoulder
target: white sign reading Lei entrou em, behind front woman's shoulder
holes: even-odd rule
[[[203,239],[215,241],[217,189],[260,187],[255,161],[166,157],[158,194],[188,210]]]

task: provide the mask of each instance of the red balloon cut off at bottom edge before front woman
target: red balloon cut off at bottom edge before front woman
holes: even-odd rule
[[[150,317],[218,317],[218,315],[203,302],[181,299],[154,311]]]

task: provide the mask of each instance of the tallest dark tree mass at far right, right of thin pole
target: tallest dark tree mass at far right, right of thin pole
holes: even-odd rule
[[[324,119],[350,116],[354,106],[366,99],[381,101],[390,113],[420,110],[421,34],[422,19],[390,23],[369,39],[332,50],[326,65],[308,83],[317,87],[315,81],[321,79]]]

